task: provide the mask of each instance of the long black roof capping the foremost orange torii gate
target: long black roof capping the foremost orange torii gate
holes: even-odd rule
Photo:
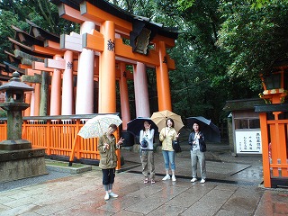
[[[67,4],[68,6],[80,11],[80,4],[83,2],[83,0],[50,0],[50,2],[57,5],[61,3]],[[130,23],[133,23],[135,21],[145,23],[149,29],[157,31],[159,35],[172,39],[177,39],[178,37],[178,31],[176,27],[164,27],[163,24],[153,23],[147,17],[130,14],[129,12],[121,9],[120,7],[104,0],[86,0],[86,2],[93,4],[94,6],[100,8],[106,13],[117,16],[122,20],[128,21]]]

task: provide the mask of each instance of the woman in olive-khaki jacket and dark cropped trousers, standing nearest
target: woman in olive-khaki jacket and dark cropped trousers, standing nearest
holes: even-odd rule
[[[112,193],[112,184],[115,178],[115,167],[117,166],[117,156],[116,149],[120,148],[124,139],[120,139],[116,143],[115,136],[113,132],[117,130],[115,124],[111,124],[108,127],[106,133],[100,137],[98,142],[98,150],[100,152],[100,163],[99,167],[102,169],[103,173],[103,186],[105,190],[104,200],[109,200],[110,197],[118,197],[117,194]]]

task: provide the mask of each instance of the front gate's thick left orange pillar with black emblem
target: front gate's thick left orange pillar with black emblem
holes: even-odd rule
[[[100,31],[104,49],[99,56],[99,113],[116,112],[115,26],[105,21]]]

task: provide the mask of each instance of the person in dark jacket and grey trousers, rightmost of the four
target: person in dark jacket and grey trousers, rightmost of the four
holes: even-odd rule
[[[206,144],[204,140],[204,135],[200,131],[199,124],[197,122],[193,123],[193,131],[189,135],[188,139],[189,145],[191,145],[191,163],[192,163],[192,180],[194,183],[197,181],[197,160],[199,160],[201,181],[200,183],[205,183],[206,181],[206,166],[205,166],[205,151]]]

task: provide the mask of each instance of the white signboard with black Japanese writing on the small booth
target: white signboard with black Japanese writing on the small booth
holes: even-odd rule
[[[260,130],[236,130],[235,135],[238,154],[262,154]]]

